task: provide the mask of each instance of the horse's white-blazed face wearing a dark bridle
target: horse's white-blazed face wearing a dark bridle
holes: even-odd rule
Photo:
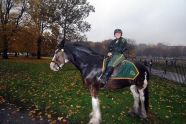
[[[50,63],[50,69],[53,71],[59,71],[67,62],[68,59],[64,49],[57,49]]]

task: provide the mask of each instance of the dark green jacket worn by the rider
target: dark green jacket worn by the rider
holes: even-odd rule
[[[108,47],[108,51],[112,52],[112,54],[123,54],[127,50],[127,40],[123,37],[120,39],[114,39],[111,41]]]

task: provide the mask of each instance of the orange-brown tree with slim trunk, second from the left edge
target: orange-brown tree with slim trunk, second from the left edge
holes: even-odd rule
[[[37,58],[41,58],[43,33],[50,26],[49,24],[49,2],[48,0],[30,0],[27,13],[30,18],[30,26],[35,28],[37,34]]]

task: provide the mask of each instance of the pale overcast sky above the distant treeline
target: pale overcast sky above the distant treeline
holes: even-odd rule
[[[114,38],[116,28],[136,43],[186,46],[186,0],[88,0],[89,41]]]

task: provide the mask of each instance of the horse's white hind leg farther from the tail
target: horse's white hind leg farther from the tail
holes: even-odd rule
[[[131,85],[130,90],[131,90],[132,95],[134,97],[134,104],[133,104],[133,107],[129,110],[129,114],[131,116],[135,116],[135,115],[139,114],[139,100],[140,100],[139,93],[138,93],[136,85]]]

